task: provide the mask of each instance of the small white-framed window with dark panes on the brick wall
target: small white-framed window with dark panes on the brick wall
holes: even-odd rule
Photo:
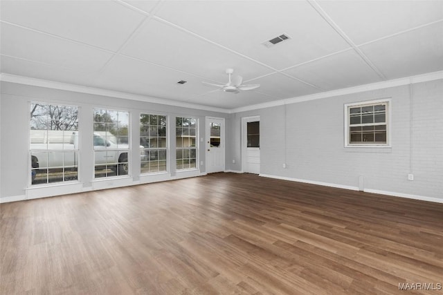
[[[388,146],[389,102],[345,105],[345,146]]]

